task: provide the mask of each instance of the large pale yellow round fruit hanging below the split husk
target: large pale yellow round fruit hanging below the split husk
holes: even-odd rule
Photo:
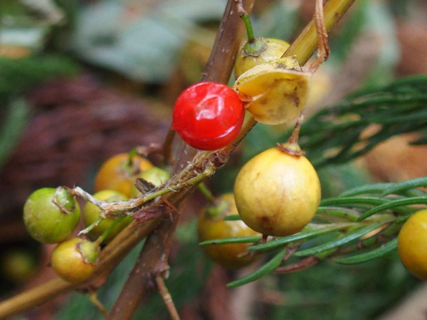
[[[309,160],[278,148],[244,164],[234,184],[240,217],[264,235],[298,233],[320,204],[320,181]]]

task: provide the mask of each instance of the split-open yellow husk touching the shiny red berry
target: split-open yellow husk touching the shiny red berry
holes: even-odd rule
[[[300,115],[307,100],[310,78],[311,73],[300,71],[298,62],[287,57],[244,72],[233,88],[255,120],[280,125]]]

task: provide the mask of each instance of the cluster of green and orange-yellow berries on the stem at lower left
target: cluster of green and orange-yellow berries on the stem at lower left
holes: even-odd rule
[[[159,186],[169,173],[140,156],[120,153],[103,163],[94,183],[94,198],[121,202],[140,194],[134,186],[141,178]],[[85,281],[94,272],[101,246],[110,242],[133,218],[121,212],[102,217],[101,209],[86,202],[82,210],[85,227],[94,227],[84,237],[73,237],[81,209],[72,192],[63,187],[34,191],[25,202],[23,220],[30,235],[39,242],[58,244],[52,251],[55,272],[72,283]],[[98,223],[96,224],[96,221]]]

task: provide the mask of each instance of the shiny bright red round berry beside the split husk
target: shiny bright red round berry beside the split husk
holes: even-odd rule
[[[172,129],[191,147],[216,150],[225,147],[242,129],[244,108],[227,85],[201,82],[178,97]]]

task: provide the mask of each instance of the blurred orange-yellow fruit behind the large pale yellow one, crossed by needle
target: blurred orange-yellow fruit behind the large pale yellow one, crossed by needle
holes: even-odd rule
[[[200,242],[228,237],[249,237],[260,235],[242,220],[225,221],[227,215],[236,215],[233,194],[221,195],[215,206],[209,206],[198,217],[198,239]],[[241,268],[253,262],[258,255],[246,251],[250,244],[221,244],[202,246],[209,257],[226,268]]]

